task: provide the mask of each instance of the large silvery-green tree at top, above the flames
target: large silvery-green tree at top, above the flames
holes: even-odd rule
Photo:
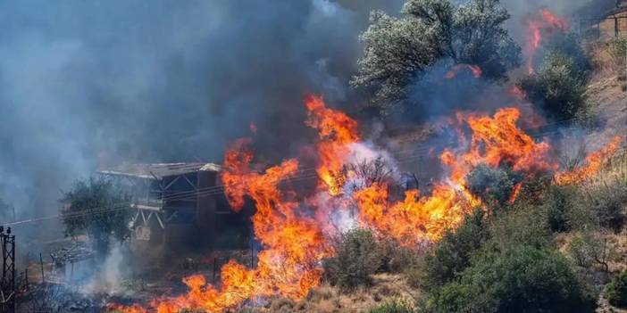
[[[520,47],[503,26],[509,14],[498,0],[408,0],[402,13],[372,12],[360,37],[364,56],[352,84],[372,88],[381,111],[404,103],[414,81],[440,59],[480,66],[491,79],[504,78],[520,62]]]

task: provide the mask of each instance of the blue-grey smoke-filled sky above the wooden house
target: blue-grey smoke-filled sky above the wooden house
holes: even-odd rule
[[[402,3],[3,1],[0,198],[46,215],[98,166],[220,161],[251,122],[268,154],[296,149],[305,93],[361,104],[347,87],[357,36]],[[542,4],[573,1],[506,1],[514,17]]]

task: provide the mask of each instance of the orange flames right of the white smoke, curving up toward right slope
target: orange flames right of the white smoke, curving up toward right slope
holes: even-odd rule
[[[457,119],[471,128],[472,138],[462,151],[447,149],[440,155],[442,163],[450,169],[447,181],[437,184],[429,196],[419,197],[418,191],[407,191],[405,199],[396,203],[389,202],[388,185],[374,184],[357,191],[354,198],[364,226],[408,246],[434,242],[481,205],[465,186],[465,177],[477,165],[497,168],[506,163],[525,173],[556,169],[548,161],[549,144],[536,143],[518,128],[519,117],[520,111],[515,108],[501,109],[494,117],[458,114]],[[457,133],[464,143],[463,131]],[[515,186],[509,202],[514,202],[521,188],[522,184]]]

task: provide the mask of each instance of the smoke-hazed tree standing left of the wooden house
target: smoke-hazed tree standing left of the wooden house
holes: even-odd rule
[[[77,181],[62,198],[65,235],[88,235],[96,251],[105,253],[112,238],[122,242],[130,236],[130,200],[111,180]]]

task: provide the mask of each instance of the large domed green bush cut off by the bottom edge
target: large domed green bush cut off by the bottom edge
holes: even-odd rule
[[[427,301],[431,312],[592,312],[594,298],[556,251],[486,251]]]

